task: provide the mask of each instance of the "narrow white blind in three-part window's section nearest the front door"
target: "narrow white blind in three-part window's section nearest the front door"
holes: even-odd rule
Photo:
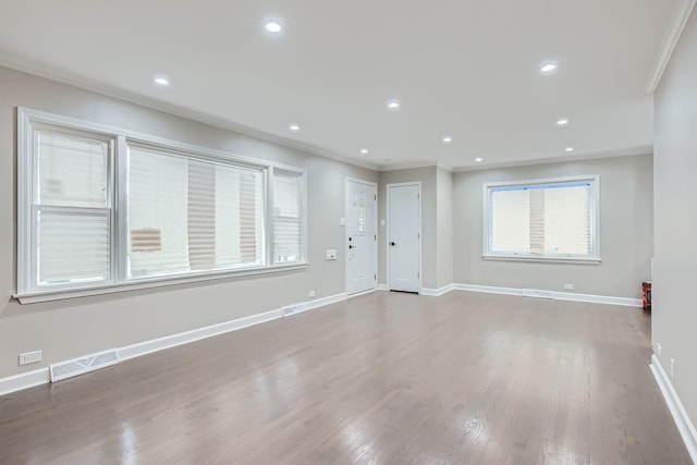
[[[302,256],[301,175],[273,173],[273,261],[298,261]]]

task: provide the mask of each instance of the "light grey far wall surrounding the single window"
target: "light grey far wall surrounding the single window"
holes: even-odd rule
[[[457,283],[640,297],[653,241],[651,156],[616,157],[460,172],[454,175]],[[482,260],[482,184],[600,175],[600,265]]]

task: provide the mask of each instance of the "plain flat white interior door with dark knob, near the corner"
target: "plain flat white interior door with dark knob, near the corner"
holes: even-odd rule
[[[420,185],[388,184],[388,272],[390,291],[421,289]]]

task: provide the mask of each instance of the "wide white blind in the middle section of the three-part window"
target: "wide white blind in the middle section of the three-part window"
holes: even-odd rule
[[[262,265],[262,171],[132,145],[129,231],[129,278]]]

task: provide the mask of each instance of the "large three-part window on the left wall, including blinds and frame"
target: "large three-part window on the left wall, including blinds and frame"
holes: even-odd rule
[[[33,110],[19,122],[21,301],[305,264],[303,170]]]

